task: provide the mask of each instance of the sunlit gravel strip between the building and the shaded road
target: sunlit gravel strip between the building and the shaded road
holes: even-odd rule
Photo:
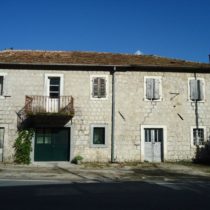
[[[0,164],[0,179],[68,180],[75,182],[210,180],[210,166],[191,163],[69,163],[41,165]]]

